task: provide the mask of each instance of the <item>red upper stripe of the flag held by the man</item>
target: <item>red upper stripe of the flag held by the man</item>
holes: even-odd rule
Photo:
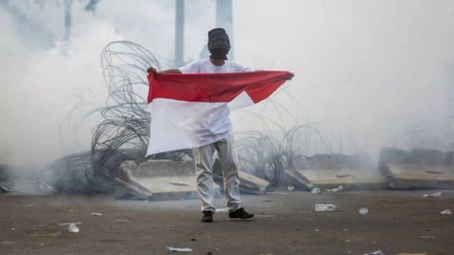
[[[255,103],[268,98],[290,76],[288,71],[224,74],[151,74],[148,102],[168,98],[187,102],[230,102],[246,91]]]

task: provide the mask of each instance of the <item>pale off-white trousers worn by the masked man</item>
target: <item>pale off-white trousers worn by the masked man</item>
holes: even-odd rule
[[[213,144],[194,148],[195,176],[197,190],[202,202],[202,212],[215,212],[213,206],[213,154],[215,150],[217,150],[222,166],[227,208],[229,212],[233,212],[241,208],[241,199],[239,199],[238,159],[235,154],[232,135]]]

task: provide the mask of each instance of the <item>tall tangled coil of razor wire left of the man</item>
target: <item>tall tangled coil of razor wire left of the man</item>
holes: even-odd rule
[[[100,115],[101,121],[92,131],[90,151],[67,155],[51,164],[50,170],[56,177],[51,183],[67,192],[114,190],[120,164],[125,160],[143,160],[147,151],[151,118],[144,97],[149,86],[146,70],[150,66],[160,70],[171,66],[169,63],[170,60],[137,43],[114,41],[106,45],[100,56],[109,93],[105,105],[77,98],[59,130],[61,137],[65,127],[72,130],[73,137],[78,137],[80,126]],[[183,157],[192,157],[191,151],[160,153],[152,158],[180,160]]]

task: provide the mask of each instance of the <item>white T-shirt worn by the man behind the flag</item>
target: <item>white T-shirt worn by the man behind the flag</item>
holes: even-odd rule
[[[225,61],[224,65],[218,67],[217,65],[213,65],[209,58],[195,60],[184,67],[180,67],[179,70],[182,74],[215,74],[254,71],[233,61]],[[213,86],[216,85],[213,84]],[[203,130],[199,133],[200,137],[219,141],[230,136],[232,134],[232,122],[230,122],[230,118],[228,117],[229,114],[230,109],[227,104],[223,104],[220,108],[213,111],[213,114],[210,114],[208,120],[204,123]]]

